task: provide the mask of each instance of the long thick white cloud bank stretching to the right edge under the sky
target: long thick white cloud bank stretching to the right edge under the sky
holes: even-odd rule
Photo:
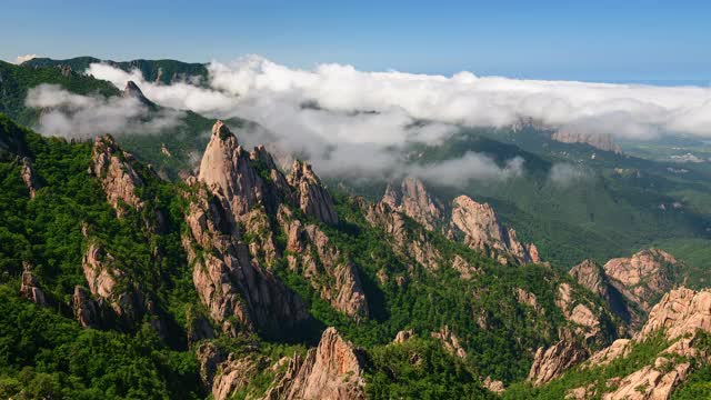
[[[276,133],[284,150],[308,157],[321,174],[388,171],[434,179],[441,174],[433,171],[447,171],[453,183],[507,179],[521,170],[521,160],[497,166],[482,154],[467,154],[418,169],[398,150],[411,142],[437,143],[459,126],[503,127],[522,119],[639,140],[711,137],[711,89],[700,87],[519,80],[465,71],[452,77],[365,72],[342,64],[300,70],[256,56],[213,61],[208,71],[206,86],[166,86],[107,64],[87,70],[119,88],[133,80],[161,106],[254,120]]]

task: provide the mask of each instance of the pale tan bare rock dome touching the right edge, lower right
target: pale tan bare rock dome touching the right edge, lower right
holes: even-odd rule
[[[697,330],[710,332],[711,291],[695,292],[680,288],[664,294],[652,308],[647,323],[634,338],[642,340],[659,330],[664,330],[669,340],[694,334]]]

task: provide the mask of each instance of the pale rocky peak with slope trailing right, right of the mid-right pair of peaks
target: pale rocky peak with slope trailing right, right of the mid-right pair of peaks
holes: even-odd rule
[[[509,258],[519,263],[540,262],[534,244],[523,244],[513,229],[504,228],[493,208],[467,196],[452,202],[450,237],[461,238],[472,249],[484,251],[505,263]]]

